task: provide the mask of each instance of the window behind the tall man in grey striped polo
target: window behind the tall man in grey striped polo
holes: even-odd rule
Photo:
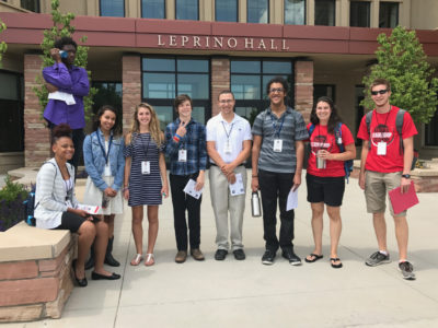
[[[269,106],[267,82],[278,75],[289,82],[286,102],[290,105],[293,91],[292,63],[290,60],[231,60],[231,91],[235,97],[235,113],[253,124],[255,116]]]

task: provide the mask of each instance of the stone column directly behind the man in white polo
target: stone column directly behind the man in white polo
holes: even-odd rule
[[[219,93],[230,90],[230,59],[223,57],[211,58],[211,116],[219,114]]]

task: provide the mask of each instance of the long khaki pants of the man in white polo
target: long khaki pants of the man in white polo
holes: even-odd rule
[[[243,185],[246,190],[246,168],[244,166],[238,166],[234,173],[242,174]],[[232,250],[242,249],[242,224],[246,194],[231,196],[227,177],[218,166],[210,167],[209,178],[211,206],[216,218],[216,244],[218,249],[229,249],[228,212],[230,212],[230,238]]]

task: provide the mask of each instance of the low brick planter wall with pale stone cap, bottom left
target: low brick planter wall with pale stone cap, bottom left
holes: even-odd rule
[[[77,239],[24,222],[0,239],[0,323],[59,318],[73,289]]]

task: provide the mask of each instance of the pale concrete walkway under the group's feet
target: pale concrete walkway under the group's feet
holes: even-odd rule
[[[80,185],[79,195],[83,192]],[[419,194],[420,203],[408,213],[410,259],[417,280],[405,281],[397,271],[392,219],[388,219],[388,245],[393,261],[376,268],[364,263],[377,250],[377,242],[356,179],[346,187],[342,209],[339,257],[344,268],[338,270],[332,269],[327,259],[326,215],[322,260],[292,267],[278,253],[274,266],[263,266],[262,219],[251,216],[249,196],[243,227],[247,258],[237,261],[231,255],[216,261],[216,227],[208,189],[207,181],[201,209],[206,261],[188,258],[183,265],[174,262],[169,198],[160,208],[155,266],[129,266],[135,248],[131,213],[126,208],[125,214],[116,218],[114,253],[123,263],[115,270],[123,274],[122,280],[89,280],[88,288],[76,288],[61,319],[4,327],[438,327],[437,194]],[[302,258],[313,250],[310,213],[302,186],[295,224],[295,250]]]

